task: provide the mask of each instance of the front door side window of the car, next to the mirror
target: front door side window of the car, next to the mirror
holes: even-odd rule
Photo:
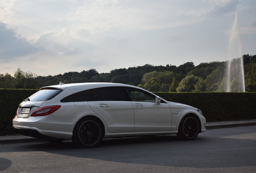
[[[155,102],[155,95],[152,95],[151,93],[130,87],[125,87],[125,90],[127,91],[132,101]]]

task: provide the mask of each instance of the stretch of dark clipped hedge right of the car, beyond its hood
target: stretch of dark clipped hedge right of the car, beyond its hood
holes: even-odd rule
[[[156,93],[200,109],[206,122],[256,119],[256,93]]]

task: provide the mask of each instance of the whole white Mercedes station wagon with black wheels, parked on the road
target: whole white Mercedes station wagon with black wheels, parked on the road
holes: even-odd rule
[[[128,84],[76,83],[41,88],[25,99],[13,119],[22,135],[72,139],[95,147],[102,139],[177,134],[192,140],[206,131],[199,109],[166,101]]]

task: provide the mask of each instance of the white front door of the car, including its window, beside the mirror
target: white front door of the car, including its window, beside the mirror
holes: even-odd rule
[[[125,87],[134,108],[134,132],[169,131],[171,107],[162,101],[156,103],[155,95],[136,88]]]

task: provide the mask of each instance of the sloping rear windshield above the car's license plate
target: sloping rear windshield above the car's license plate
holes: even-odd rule
[[[56,95],[60,94],[62,91],[63,90],[59,89],[40,90],[37,91],[35,94],[31,95],[28,99],[29,101],[47,101],[54,98]]]

